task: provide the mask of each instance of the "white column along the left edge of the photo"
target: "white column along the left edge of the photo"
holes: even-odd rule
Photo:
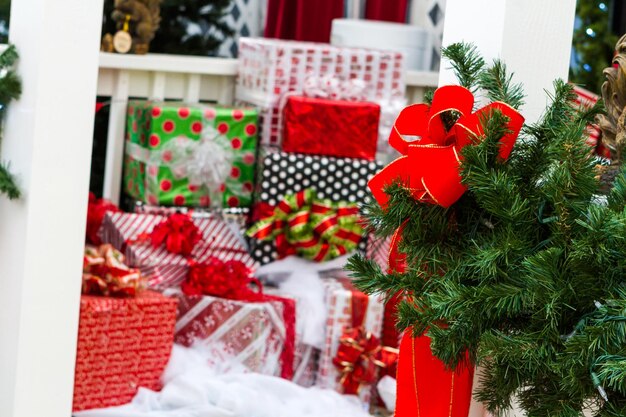
[[[102,5],[11,4],[23,94],[1,156],[23,197],[0,197],[2,417],[71,411]]]

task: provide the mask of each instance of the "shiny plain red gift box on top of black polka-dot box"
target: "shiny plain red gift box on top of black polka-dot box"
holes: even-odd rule
[[[283,109],[283,151],[373,160],[380,106],[292,96]]]

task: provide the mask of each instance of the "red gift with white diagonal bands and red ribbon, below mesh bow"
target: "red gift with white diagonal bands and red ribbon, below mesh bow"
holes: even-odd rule
[[[203,295],[166,294],[178,300],[175,340],[201,345],[224,371],[233,367],[291,379],[294,364],[295,303],[264,295],[237,301]]]

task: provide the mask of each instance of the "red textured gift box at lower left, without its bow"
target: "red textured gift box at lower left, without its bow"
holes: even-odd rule
[[[139,387],[161,388],[176,307],[176,300],[152,291],[135,298],[81,297],[74,411],[128,403]]]

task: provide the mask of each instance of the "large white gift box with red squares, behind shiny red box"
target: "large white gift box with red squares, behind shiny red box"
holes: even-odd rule
[[[261,143],[266,145],[280,145],[281,100],[286,94],[301,95],[311,76],[362,81],[365,99],[383,110],[404,102],[405,64],[399,52],[241,38],[238,58],[235,98],[260,109]]]

